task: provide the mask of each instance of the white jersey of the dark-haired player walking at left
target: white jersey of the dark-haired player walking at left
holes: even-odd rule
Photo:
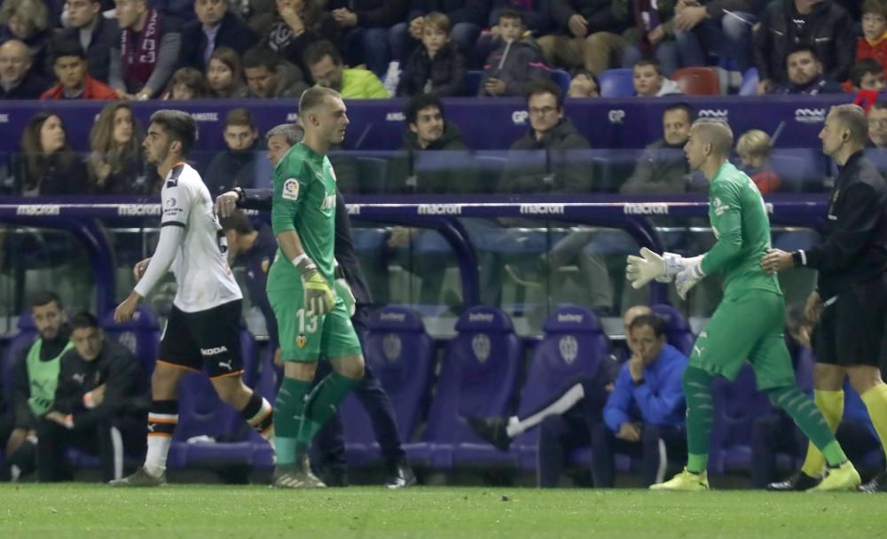
[[[173,304],[192,313],[241,299],[227,262],[228,243],[200,174],[186,163],[176,165],[163,183],[161,199],[161,227],[184,228],[171,267],[178,284]]]

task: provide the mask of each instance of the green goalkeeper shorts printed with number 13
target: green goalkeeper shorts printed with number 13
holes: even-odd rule
[[[357,332],[341,297],[323,316],[305,312],[302,288],[276,290],[268,294],[278,321],[280,354],[284,361],[313,363],[321,357],[335,359],[362,353]]]

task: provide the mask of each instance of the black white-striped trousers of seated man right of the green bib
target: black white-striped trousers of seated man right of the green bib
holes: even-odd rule
[[[72,479],[73,470],[65,458],[68,448],[98,455],[103,481],[119,479],[125,457],[145,456],[145,418],[123,416],[73,429],[41,420],[37,426],[37,480]]]

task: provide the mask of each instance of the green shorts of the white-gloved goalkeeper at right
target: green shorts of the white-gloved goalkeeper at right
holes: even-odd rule
[[[696,339],[689,365],[732,381],[748,360],[758,389],[795,386],[784,316],[785,302],[776,293],[749,290],[724,298]]]

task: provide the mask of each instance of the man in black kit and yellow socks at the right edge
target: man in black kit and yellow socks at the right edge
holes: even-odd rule
[[[822,152],[841,173],[828,204],[828,219],[819,246],[786,253],[768,249],[761,266],[773,273],[795,266],[819,270],[817,289],[807,298],[806,315],[813,332],[816,367],[815,401],[834,431],[844,413],[844,376],[850,376],[875,425],[882,448],[887,441],[887,184],[864,154],[866,113],[858,105],[831,108],[820,132]],[[807,448],[801,471],[772,483],[773,490],[815,485],[822,473],[819,451]],[[887,491],[887,473],[860,487]]]

